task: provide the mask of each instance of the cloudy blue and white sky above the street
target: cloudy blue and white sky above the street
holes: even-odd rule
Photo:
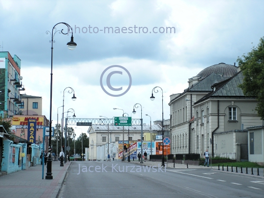
[[[155,100],[150,100],[152,89],[159,86],[164,119],[168,119],[169,96],[183,92],[188,78],[220,62],[233,65],[264,36],[263,0],[0,0],[0,17],[0,50],[21,59],[26,89],[22,93],[42,96],[48,119],[51,37],[46,31],[59,22],[73,27],[74,50],[66,46],[70,34],[54,36],[53,124],[66,87],[74,89],[77,100],[72,101],[72,94],[66,92],[65,111],[74,109],[78,118],[122,115],[122,110],[113,108],[131,115],[134,104],[140,103],[143,123],[149,123],[145,114],[152,121],[162,118],[160,89]],[[105,27],[116,32],[105,32]],[[167,27],[174,29],[166,33]],[[67,33],[64,24],[56,28]],[[132,78],[131,88],[120,97],[108,95],[100,86],[101,74],[113,65],[125,67]],[[110,85],[122,90],[107,87],[111,71],[123,72],[110,78]],[[117,67],[102,78],[106,91],[115,95],[123,93],[129,83],[129,75]],[[136,111],[132,118],[140,118],[140,110]],[[59,119],[61,113],[62,108]]]

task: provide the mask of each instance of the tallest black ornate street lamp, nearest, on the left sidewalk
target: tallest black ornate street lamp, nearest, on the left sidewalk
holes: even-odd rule
[[[67,24],[66,22],[59,22],[57,23],[56,25],[58,24],[65,24],[67,26],[67,29],[71,28],[69,24]],[[46,31],[46,34],[50,34],[51,36],[51,73],[50,73],[50,108],[49,108],[49,139],[48,139],[48,147],[49,147],[49,150],[48,150],[48,159],[47,159],[47,173],[46,173],[46,176],[45,176],[45,179],[53,179],[53,176],[52,176],[52,173],[51,173],[51,170],[52,170],[52,160],[51,160],[51,123],[52,123],[52,117],[51,117],[51,111],[52,111],[52,64],[53,64],[53,43],[55,41],[53,41],[53,37],[55,36],[56,32],[59,32],[59,33],[62,33],[62,34],[67,34],[67,33],[64,33],[63,32],[63,29],[62,30],[56,30],[56,25],[53,26],[52,28],[52,31],[50,33],[50,31]],[[55,30],[55,31],[54,31]],[[71,28],[72,30],[72,28]],[[54,31],[54,33],[53,33]],[[73,42],[73,30],[72,30],[72,33],[71,33],[71,38],[70,38],[70,42],[67,43],[68,45],[68,48],[69,49],[74,49],[76,47],[76,43]]]

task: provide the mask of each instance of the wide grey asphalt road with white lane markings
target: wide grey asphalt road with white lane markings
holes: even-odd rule
[[[135,167],[131,167],[135,166]],[[59,198],[263,198],[264,176],[207,169],[72,162]]]

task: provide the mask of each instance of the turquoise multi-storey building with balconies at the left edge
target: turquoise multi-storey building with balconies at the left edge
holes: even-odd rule
[[[17,55],[12,57],[9,52],[0,52],[0,115],[12,117],[18,114],[22,101],[20,91],[22,76],[20,76],[21,60]]]

